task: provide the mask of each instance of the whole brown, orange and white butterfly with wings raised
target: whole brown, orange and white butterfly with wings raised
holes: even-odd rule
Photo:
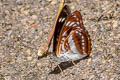
[[[59,62],[75,61],[89,56],[91,39],[79,11],[71,13],[65,5],[61,10],[53,35],[53,52]]]

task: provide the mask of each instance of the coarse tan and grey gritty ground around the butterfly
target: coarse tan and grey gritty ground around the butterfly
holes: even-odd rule
[[[37,59],[54,22],[57,0],[0,0],[0,80],[120,80],[120,0],[67,0],[92,39],[88,59],[59,74]],[[51,67],[52,62],[52,67]]]

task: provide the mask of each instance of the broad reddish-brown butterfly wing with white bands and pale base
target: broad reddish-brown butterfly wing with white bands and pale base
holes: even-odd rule
[[[91,40],[79,11],[68,16],[61,29],[58,42],[56,54],[61,62],[74,61],[89,55]]]

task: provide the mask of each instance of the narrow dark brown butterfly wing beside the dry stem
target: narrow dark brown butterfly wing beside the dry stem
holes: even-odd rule
[[[58,44],[58,39],[60,36],[61,29],[63,27],[63,24],[65,23],[67,16],[70,14],[70,9],[67,5],[65,5],[58,17],[56,28],[54,32],[54,38],[53,38],[53,52],[56,51],[56,45]]]

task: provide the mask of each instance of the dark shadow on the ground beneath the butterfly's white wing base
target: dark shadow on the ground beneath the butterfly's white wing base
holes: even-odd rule
[[[72,61],[61,62],[60,64],[58,64],[58,66],[59,66],[59,67],[62,69],[62,71],[63,71],[63,70],[66,70],[67,68],[72,67],[72,66],[74,66],[75,64],[79,63],[81,60],[88,59],[88,58],[89,58],[89,57],[87,56],[87,57],[85,57],[85,58],[83,58],[83,59],[76,60],[76,61],[74,61],[74,64],[73,64]],[[58,66],[56,66],[53,71],[49,72],[49,74],[59,74],[59,73],[61,73],[61,70],[60,70],[60,68],[59,68]]]

